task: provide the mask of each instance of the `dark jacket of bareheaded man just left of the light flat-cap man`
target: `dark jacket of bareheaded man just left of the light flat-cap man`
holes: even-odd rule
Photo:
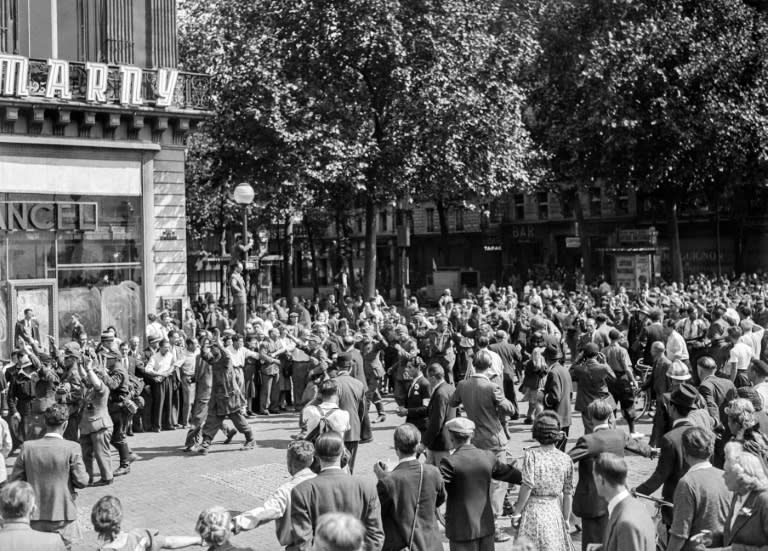
[[[400,551],[408,547],[416,512],[420,467],[424,468],[419,496],[419,514],[413,533],[412,551],[442,551],[437,527],[437,508],[445,501],[445,485],[440,471],[418,461],[401,463],[379,480],[377,490],[384,525],[384,551]]]

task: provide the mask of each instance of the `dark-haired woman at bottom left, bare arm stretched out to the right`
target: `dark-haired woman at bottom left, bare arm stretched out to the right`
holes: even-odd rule
[[[157,530],[124,532],[123,506],[114,496],[104,496],[96,502],[91,510],[91,523],[102,550],[141,551],[203,545],[200,536],[161,536]]]

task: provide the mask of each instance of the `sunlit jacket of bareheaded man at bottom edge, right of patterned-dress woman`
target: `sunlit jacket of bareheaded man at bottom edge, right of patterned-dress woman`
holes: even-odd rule
[[[622,500],[608,519],[602,551],[655,551],[656,527],[645,506],[632,496]]]

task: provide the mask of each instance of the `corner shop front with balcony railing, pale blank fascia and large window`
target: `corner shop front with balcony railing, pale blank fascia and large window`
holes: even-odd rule
[[[207,78],[146,69],[138,98],[112,79],[90,101],[83,64],[68,65],[67,98],[35,86],[53,69],[31,62],[23,93],[0,89],[0,359],[27,308],[47,349],[78,325],[143,339],[147,313],[188,302],[184,140],[208,114]]]

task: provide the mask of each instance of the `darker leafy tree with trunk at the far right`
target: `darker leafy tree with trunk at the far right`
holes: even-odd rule
[[[740,0],[536,4],[534,136],[563,180],[663,201],[682,281],[681,202],[764,175],[764,20]]]

